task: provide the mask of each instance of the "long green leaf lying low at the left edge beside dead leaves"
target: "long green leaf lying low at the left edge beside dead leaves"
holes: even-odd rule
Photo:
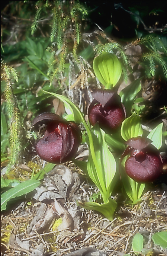
[[[10,199],[15,198],[16,196],[25,195],[35,188],[37,188],[40,184],[39,180],[26,180],[16,187],[9,189],[1,195],[1,211],[6,210],[6,204],[10,201]]]

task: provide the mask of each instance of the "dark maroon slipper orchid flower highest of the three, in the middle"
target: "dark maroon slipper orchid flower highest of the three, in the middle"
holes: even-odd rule
[[[94,100],[88,109],[90,124],[98,123],[107,133],[115,132],[126,117],[120,96],[112,90],[96,90],[92,96]]]

